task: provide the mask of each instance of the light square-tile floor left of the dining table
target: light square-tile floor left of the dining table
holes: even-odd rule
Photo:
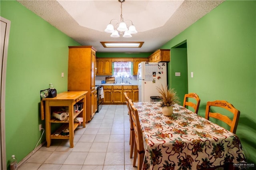
[[[42,146],[19,170],[137,170],[130,159],[130,123],[126,105],[103,105],[86,128],[69,140]]]

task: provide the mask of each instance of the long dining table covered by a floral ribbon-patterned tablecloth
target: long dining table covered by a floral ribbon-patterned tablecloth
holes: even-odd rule
[[[134,102],[144,140],[143,170],[197,170],[245,162],[236,134],[174,104],[172,116],[160,102]],[[228,168],[229,169],[229,168]]]

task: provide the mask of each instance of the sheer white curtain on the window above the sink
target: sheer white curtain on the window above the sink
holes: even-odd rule
[[[132,76],[131,61],[113,62],[113,67],[114,67],[114,77],[131,77]]]

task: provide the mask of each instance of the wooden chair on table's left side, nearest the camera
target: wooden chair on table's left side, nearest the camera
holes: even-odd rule
[[[137,154],[138,154],[138,170],[141,170],[143,160],[144,160],[144,154],[145,154],[142,131],[140,129],[138,110],[134,107],[131,99],[129,99],[129,107],[131,109],[131,117],[132,117],[132,122],[134,127],[134,138],[135,138],[133,166],[136,166],[136,160],[137,160]]]

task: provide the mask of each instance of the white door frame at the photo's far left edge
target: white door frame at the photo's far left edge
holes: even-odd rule
[[[7,169],[6,167],[6,141],[5,141],[5,85],[6,85],[6,65],[7,65],[7,52],[10,34],[11,22],[3,17],[0,17],[1,22],[1,89],[0,89],[0,168]],[[4,25],[3,25],[4,24]],[[5,32],[2,32],[2,27],[5,27]],[[1,36],[2,37],[2,36]]]

